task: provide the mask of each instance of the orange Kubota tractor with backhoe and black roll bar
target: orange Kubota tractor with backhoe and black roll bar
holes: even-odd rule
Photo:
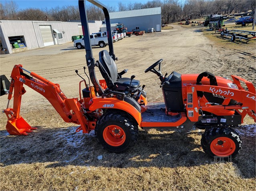
[[[197,127],[205,130],[201,144],[206,154],[221,157],[238,154],[242,141],[232,127],[241,124],[246,114],[256,119],[256,95],[252,83],[234,75],[231,81],[208,72],[181,75],[173,71],[170,75],[162,75],[163,59],[160,59],[145,73],[151,71],[159,77],[164,102],[149,103],[145,85],[141,87],[134,75],[122,77],[126,70],[117,71],[107,8],[95,0],[89,2],[103,9],[109,41],[109,52],[100,51],[99,61],[95,61],[85,3],[79,0],[86,61],[93,85],[83,79],[79,83],[79,98],[67,98],[58,84],[25,70],[22,65],[15,65],[9,92],[7,82],[1,80],[3,92],[8,92],[8,106],[4,110],[8,117],[7,131],[12,135],[27,135],[35,129],[20,116],[21,97],[26,93],[23,86],[27,85],[48,99],[65,122],[80,125],[77,132],[95,130],[99,142],[109,151],[123,152],[133,147],[138,139],[138,127],[144,130],[191,130]],[[97,80],[95,67],[99,67],[105,80]],[[246,84],[248,91],[240,81]],[[81,90],[83,83],[85,87]],[[14,105],[9,108],[12,97]]]

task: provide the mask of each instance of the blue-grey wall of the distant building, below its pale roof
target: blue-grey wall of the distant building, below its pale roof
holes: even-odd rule
[[[161,14],[110,19],[110,22],[124,24],[128,32],[131,32],[137,26],[139,26],[140,30],[145,30],[146,32],[148,28],[154,28],[157,31],[157,25],[160,25],[159,31],[161,31]]]

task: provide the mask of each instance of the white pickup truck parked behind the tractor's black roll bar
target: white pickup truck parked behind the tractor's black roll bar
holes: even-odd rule
[[[103,47],[107,46],[107,44],[108,44],[107,36],[105,34],[100,37],[98,37],[97,34],[91,34],[90,37],[91,37],[91,46],[99,46],[99,47],[103,48]],[[81,49],[81,48],[85,47],[84,38],[75,40],[74,47],[76,47],[77,49]]]

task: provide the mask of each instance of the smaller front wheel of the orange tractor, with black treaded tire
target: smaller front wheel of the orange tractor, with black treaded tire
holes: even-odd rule
[[[233,148],[230,147],[230,150],[229,150],[229,147],[228,147],[230,146],[229,143],[235,146],[235,149],[234,147]],[[211,148],[211,144],[212,144],[212,148]],[[231,155],[232,158],[234,158],[239,153],[239,150],[242,148],[241,144],[242,144],[242,141],[240,140],[238,133],[232,128],[228,128],[228,127],[208,128],[202,134],[202,139],[201,139],[201,146],[204,152],[211,157],[214,157],[214,156],[225,157],[225,156]],[[217,147],[218,147],[218,150],[217,150],[218,153],[221,153],[221,154],[216,154]],[[222,148],[223,149],[227,148],[228,150],[225,151],[225,150],[222,150]],[[229,154],[227,155],[227,153]]]

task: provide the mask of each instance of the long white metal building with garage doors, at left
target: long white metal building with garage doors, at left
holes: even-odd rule
[[[90,33],[101,24],[89,22]],[[72,42],[75,35],[83,35],[81,22],[0,20],[1,49],[9,54]]]

